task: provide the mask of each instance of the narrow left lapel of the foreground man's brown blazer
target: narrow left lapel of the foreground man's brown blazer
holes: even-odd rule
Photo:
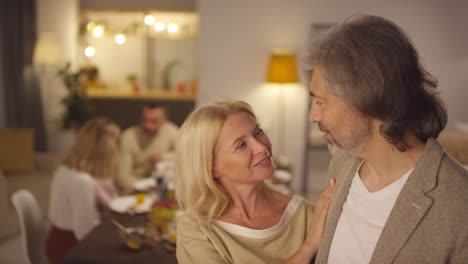
[[[330,246],[333,241],[335,229],[338,225],[338,220],[340,219],[341,211],[343,210],[343,204],[346,201],[349,188],[351,187],[351,183],[360,162],[361,160],[354,159],[352,162],[347,163],[345,168],[338,172],[338,174],[343,173],[344,177],[341,177],[340,175],[330,175],[330,177],[337,178],[337,185],[333,194],[332,204],[327,216],[327,224],[325,226],[322,241],[320,242],[320,248],[317,253],[317,257],[315,258],[315,263],[328,262],[328,254],[330,252]],[[342,178],[342,182],[339,182],[338,177]]]

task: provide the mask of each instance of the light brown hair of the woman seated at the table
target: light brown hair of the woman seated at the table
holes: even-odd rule
[[[63,164],[87,172],[95,178],[115,176],[119,132],[117,124],[109,118],[96,117],[89,120],[80,129]]]

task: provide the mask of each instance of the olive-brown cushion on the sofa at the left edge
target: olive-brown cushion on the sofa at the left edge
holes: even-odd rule
[[[0,170],[28,172],[34,166],[34,131],[30,128],[0,128]]]

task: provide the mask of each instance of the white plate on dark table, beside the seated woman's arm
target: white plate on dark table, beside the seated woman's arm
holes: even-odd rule
[[[142,214],[151,210],[154,201],[154,197],[146,195],[143,202],[137,204],[135,195],[127,195],[115,198],[110,202],[109,207],[116,213]]]

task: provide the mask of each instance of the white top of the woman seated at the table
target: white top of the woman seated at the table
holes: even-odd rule
[[[49,219],[83,239],[100,223],[95,179],[64,165],[58,167],[51,184]]]

